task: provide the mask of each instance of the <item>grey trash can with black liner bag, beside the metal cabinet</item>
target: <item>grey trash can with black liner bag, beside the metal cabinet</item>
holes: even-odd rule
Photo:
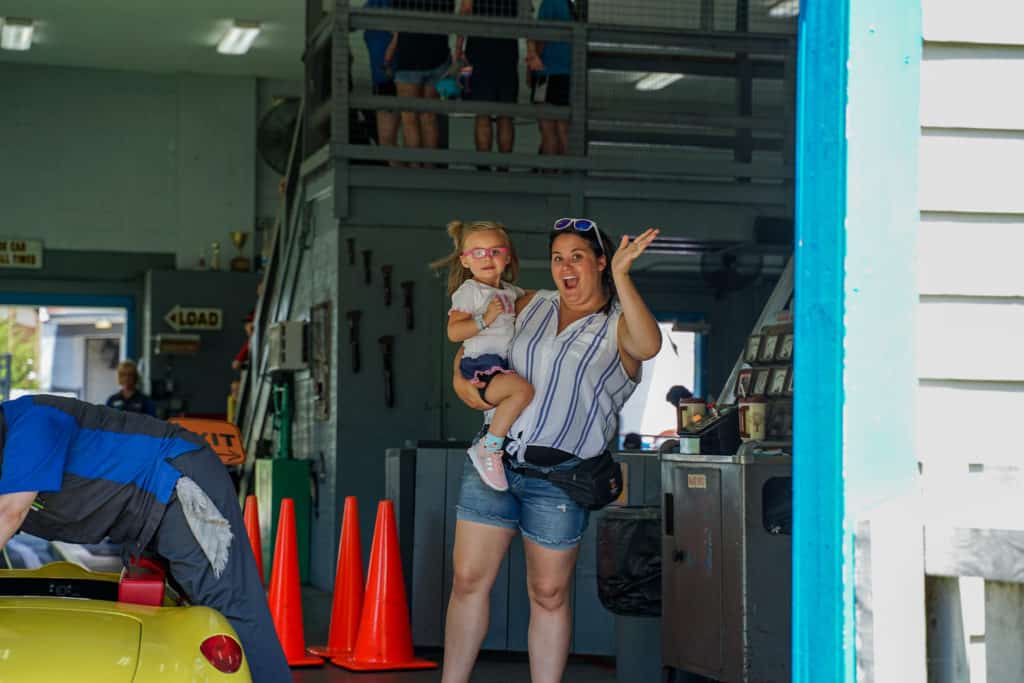
[[[597,595],[615,614],[615,680],[662,675],[662,509],[609,507],[597,523]]]

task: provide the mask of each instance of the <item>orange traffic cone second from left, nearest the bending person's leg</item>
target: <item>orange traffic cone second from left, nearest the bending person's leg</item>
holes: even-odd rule
[[[305,634],[302,631],[302,593],[299,589],[299,551],[295,539],[295,501],[290,498],[282,499],[281,514],[278,516],[269,602],[273,627],[289,666],[324,664],[319,657],[306,654]]]

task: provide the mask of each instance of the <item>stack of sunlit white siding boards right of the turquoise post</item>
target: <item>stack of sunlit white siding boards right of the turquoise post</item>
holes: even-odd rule
[[[918,456],[1024,467],[1024,0],[922,10]]]

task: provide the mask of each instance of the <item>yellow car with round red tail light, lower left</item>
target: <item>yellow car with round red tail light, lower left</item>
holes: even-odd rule
[[[145,603],[145,604],[139,604]],[[0,569],[0,683],[251,681],[230,624],[183,604],[155,566]]]

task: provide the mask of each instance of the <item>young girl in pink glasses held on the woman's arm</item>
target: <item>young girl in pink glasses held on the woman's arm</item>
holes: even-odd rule
[[[455,250],[431,266],[449,268],[449,339],[463,342],[459,372],[496,407],[489,430],[470,446],[469,457],[485,484],[508,490],[502,443],[534,398],[534,387],[509,370],[506,358],[515,327],[515,300],[523,294],[512,285],[519,274],[519,258],[499,223],[453,221],[447,233]]]

